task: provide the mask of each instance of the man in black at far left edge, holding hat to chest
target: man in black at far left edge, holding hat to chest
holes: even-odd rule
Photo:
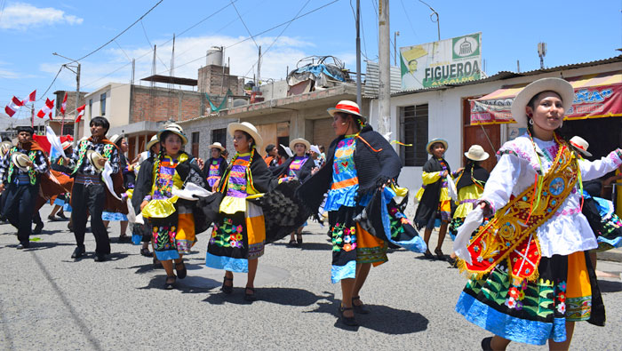
[[[18,127],[18,144],[9,150],[0,164],[0,179],[2,179],[0,191],[6,191],[4,217],[17,228],[17,238],[20,241],[17,245],[18,250],[30,246],[32,219],[36,197],[39,195],[40,177],[50,168],[44,150],[32,140],[34,132],[28,126]],[[12,156],[17,152],[28,157],[28,161],[23,164],[28,167],[26,171],[12,162]]]

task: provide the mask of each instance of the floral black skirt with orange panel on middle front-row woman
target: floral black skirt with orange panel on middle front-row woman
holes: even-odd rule
[[[261,207],[246,201],[246,211],[220,212],[207,244],[207,267],[248,272],[249,259],[264,254],[266,222]]]

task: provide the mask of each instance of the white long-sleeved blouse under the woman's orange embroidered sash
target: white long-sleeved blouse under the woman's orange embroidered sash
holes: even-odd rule
[[[505,206],[511,195],[519,195],[527,187],[533,187],[536,173],[538,172],[538,177],[542,176],[553,165],[559,149],[558,144],[554,140],[533,140],[536,150],[526,133],[515,140],[507,141],[499,149],[498,163],[490,172],[481,198],[490,203],[493,211]],[[536,152],[542,162],[541,172]],[[622,154],[618,149],[594,162],[579,160],[581,178],[584,181],[596,179],[616,170],[622,164],[620,155]],[[569,255],[598,246],[592,228],[581,213],[578,185],[572,189],[553,217],[538,227],[536,233],[543,257]]]

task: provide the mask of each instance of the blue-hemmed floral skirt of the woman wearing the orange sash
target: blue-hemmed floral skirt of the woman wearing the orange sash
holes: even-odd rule
[[[456,305],[466,320],[505,339],[544,345],[566,339],[566,321],[604,325],[604,306],[586,252],[543,257],[536,282],[513,283],[498,265],[472,277]]]

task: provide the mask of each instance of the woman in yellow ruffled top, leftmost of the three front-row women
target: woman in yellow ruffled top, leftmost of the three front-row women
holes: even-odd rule
[[[132,205],[141,211],[152,227],[156,258],[166,271],[164,288],[173,289],[176,278],[187,275],[183,255],[190,253],[195,244],[195,203],[172,195],[173,190],[192,182],[205,187],[203,173],[182,149],[187,143],[183,129],[168,124],[157,133],[160,152],[154,159],[140,165],[137,186],[132,195]],[[137,213],[138,214],[138,213]],[[173,273],[173,261],[177,277]]]

